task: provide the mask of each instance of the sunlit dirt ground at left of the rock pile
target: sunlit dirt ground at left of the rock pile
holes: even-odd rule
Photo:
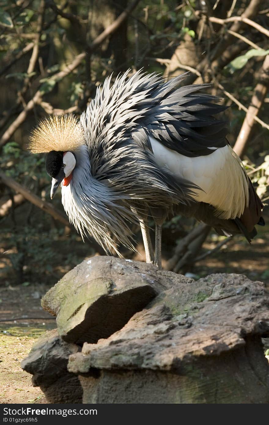
[[[34,342],[48,329],[55,329],[55,318],[44,312],[40,298],[49,288],[29,285],[0,289],[0,403],[44,403],[31,375],[20,367]]]

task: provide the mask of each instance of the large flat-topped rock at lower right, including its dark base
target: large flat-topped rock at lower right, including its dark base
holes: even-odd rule
[[[120,331],[69,357],[83,402],[269,402],[263,283],[234,274],[174,279]]]

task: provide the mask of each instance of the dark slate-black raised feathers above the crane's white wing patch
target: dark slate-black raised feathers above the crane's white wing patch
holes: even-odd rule
[[[185,156],[210,155],[210,147],[226,146],[227,122],[215,114],[227,107],[212,102],[218,98],[199,91],[210,85],[176,88],[184,77],[153,87],[139,104],[143,114],[138,119],[149,136]]]

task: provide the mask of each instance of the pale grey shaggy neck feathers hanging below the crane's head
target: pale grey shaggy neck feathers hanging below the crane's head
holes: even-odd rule
[[[73,178],[67,187],[62,187],[62,204],[70,222],[83,240],[88,235],[92,236],[106,252],[115,249],[120,255],[113,236],[134,249],[127,222],[134,222],[136,218],[123,204],[125,196],[92,176],[86,146],[79,147],[74,154],[76,167]]]

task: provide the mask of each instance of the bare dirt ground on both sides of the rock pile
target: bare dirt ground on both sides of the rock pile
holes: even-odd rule
[[[205,258],[190,270],[196,278],[210,273],[239,273],[261,280],[269,287],[269,227],[252,245],[236,238],[221,251]],[[213,243],[205,248],[212,249]],[[142,260],[142,257],[134,258]],[[48,329],[56,328],[55,319],[44,312],[40,299],[49,289],[42,284],[0,287],[0,403],[46,403],[40,388],[31,384],[31,375],[20,368],[31,346]]]

